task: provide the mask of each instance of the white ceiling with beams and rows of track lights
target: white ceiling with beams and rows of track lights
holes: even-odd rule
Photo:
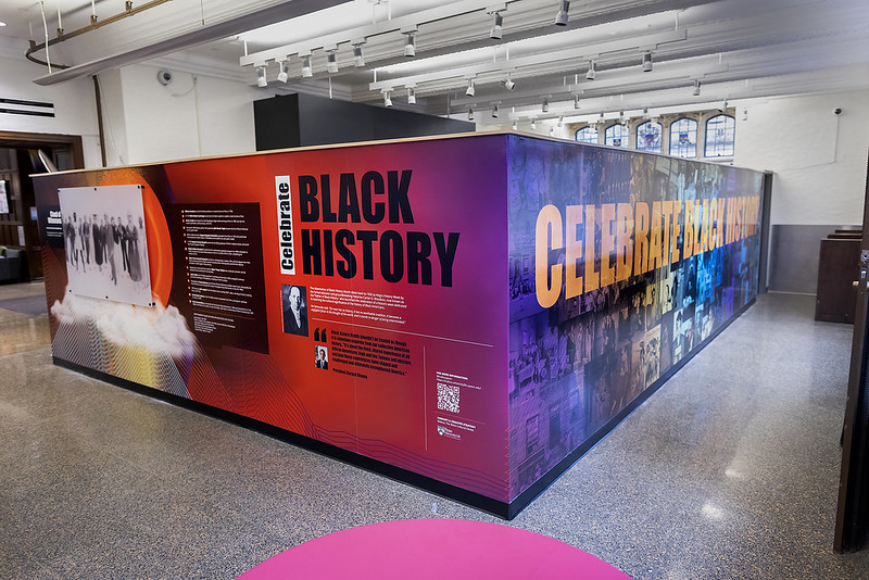
[[[37,79],[53,84],[133,62],[210,74],[255,85],[267,67],[263,96],[282,91],[382,103],[433,114],[501,106],[511,119],[617,116],[709,106],[722,100],[869,88],[869,2],[866,0],[583,0],[555,26],[558,0],[150,0],[155,5],[50,47],[55,67]],[[140,10],[149,0],[134,3]],[[337,5],[336,5],[337,4]],[[88,26],[88,0],[45,0],[49,39]],[[98,22],[123,13],[123,0],[96,1]],[[504,18],[501,40],[489,38],[493,10]],[[293,16],[293,17],[289,17]],[[45,40],[40,4],[2,0],[4,43],[28,48],[33,26]],[[405,58],[403,30],[417,28],[416,56]],[[365,66],[353,66],[353,45]],[[244,56],[247,45],[248,56]],[[326,72],[337,48],[339,72]],[[641,70],[651,50],[654,68]],[[314,77],[301,78],[300,54],[312,53]],[[45,51],[34,53],[46,60]],[[288,84],[276,80],[289,56]],[[587,80],[589,60],[597,63]],[[59,71],[58,64],[72,66]],[[504,88],[507,73],[516,83]],[[468,78],[476,96],[465,94]],[[693,96],[700,80],[701,94]],[[407,105],[414,87],[417,105]],[[579,110],[575,109],[578,97]],[[549,112],[541,103],[550,102]],[[589,117],[591,118],[591,116]]]

